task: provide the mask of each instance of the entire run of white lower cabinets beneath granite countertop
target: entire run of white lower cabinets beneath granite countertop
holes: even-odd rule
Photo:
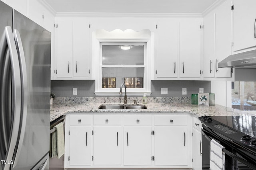
[[[192,118],[191,113],[68,113],[64,168],[198,170],[201,134]]]

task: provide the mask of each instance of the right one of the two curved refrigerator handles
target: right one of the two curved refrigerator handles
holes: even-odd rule
[[[18,59],[20,63],[20,77],[21,77],[21,123],[20,123],[20,139],[18,141],[18,148],[14,158],[12,167],[15,167],[18,161],[16,158],[20,156],[20,151],[22,147],[22,142],[25,135],[26,119],[27,119],[27,108],[28,108],[28,84],[27,84],[27,69],[25,55],[23,51],[23,45],[20,38],[20,33],[17,29],[14,29],[14,41],[16,43],[16,48],[18,51]]]

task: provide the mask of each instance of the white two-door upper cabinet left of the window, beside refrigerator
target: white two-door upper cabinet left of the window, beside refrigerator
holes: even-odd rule
[[[89,22],[84,18],[57,18],[57,80],[90,78]]]

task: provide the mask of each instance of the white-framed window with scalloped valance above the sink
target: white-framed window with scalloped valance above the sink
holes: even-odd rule
[[[114,37],[114,38],[111,38]],[[96,66],[96,96],[119,96],[125,82],[127,95],[150,96],[151,47],[149,30],[98,30],[92,42],[92,58]],[[121,49],[126,46],[128,49]]]

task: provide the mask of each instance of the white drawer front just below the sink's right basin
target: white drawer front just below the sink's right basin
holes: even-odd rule
[[[124,125],[151,125],[151,115],[124,115]]]

